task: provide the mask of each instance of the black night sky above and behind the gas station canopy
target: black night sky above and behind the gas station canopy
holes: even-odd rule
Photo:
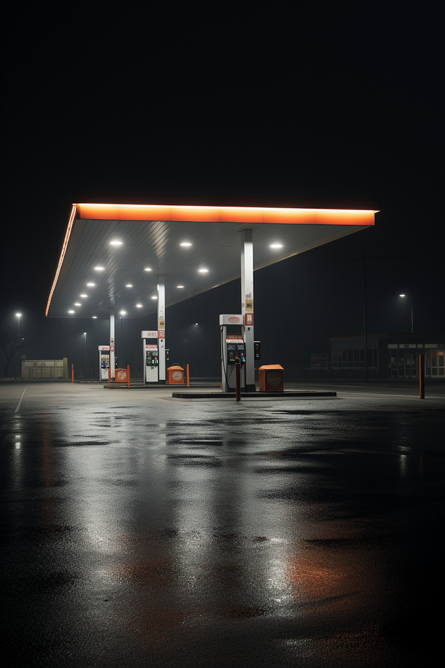
[[[75,191],[378,200],[375,228],[256,272],[256,338],[276,357],[264,361],[302,365],[330,336],[363,333],[358,240],[368,332],[410,331],[404,292],[414,331],[443,333],[434,17],[332,14],[315,29],[314,17],[215,15],[212,29],[186,30],[193,17],[169,11],[131,17],[135,30],[147,22],[140,37],[129,17],[113,19],[115,33],[97,16],[50,27],[35,15],[10,38],[0,313],[3,323],[23,314],[27,357],[80,367],[83,331],[88,359],[108,342],[106,321],[45,319]],[[235,281],[167,309],[173,361],[177,331],[199,321],[189,357],[205,351],[196,371],[217,375],[217,314],[239,302]],[[123,323],[120,353],[117,330],[119,363],[133,364],[151,320]]]

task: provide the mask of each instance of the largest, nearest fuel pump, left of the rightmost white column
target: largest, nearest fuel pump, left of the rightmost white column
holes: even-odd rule
[[[236,357],[240,359],[241,387],[245,388],[244,365],[246,363],[246,343],[242,331],[228,334],[228,326],[242,325],[242,315],[220,315],[221,330],[221,380],[224,392],[236,390]],[[236,328],[238,329],[238,327]]]

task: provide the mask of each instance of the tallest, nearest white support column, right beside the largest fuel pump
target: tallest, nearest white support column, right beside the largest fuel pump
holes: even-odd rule
[[[254,392],[254,244],[252,230],[243,230],[241,237],[241,313],[243,316],[243,339],[246,343],[246,391]],[[251,320],[252,324],[247,320]]]

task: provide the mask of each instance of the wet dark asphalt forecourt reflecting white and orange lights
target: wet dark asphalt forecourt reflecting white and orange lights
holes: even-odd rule
[[[7,665],[435,665],[445,385],[326,389],[0,384]]]

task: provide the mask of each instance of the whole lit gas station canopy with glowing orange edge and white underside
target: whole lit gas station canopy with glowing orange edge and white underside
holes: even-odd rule
[[[171,306],[240,277],[241,232],[254,270],[374,225],[370,202],[190,196],[75,197],[49,295],[49,317],[127,317]]]

